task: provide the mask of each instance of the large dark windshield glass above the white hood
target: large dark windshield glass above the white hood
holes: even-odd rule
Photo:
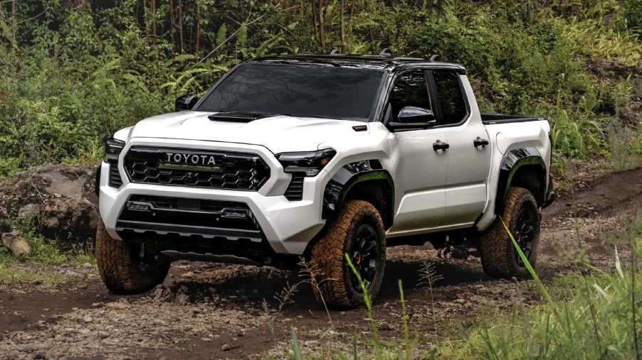
[[[242,65],[198,110],[368,121],[383,74],[352,67]]]

